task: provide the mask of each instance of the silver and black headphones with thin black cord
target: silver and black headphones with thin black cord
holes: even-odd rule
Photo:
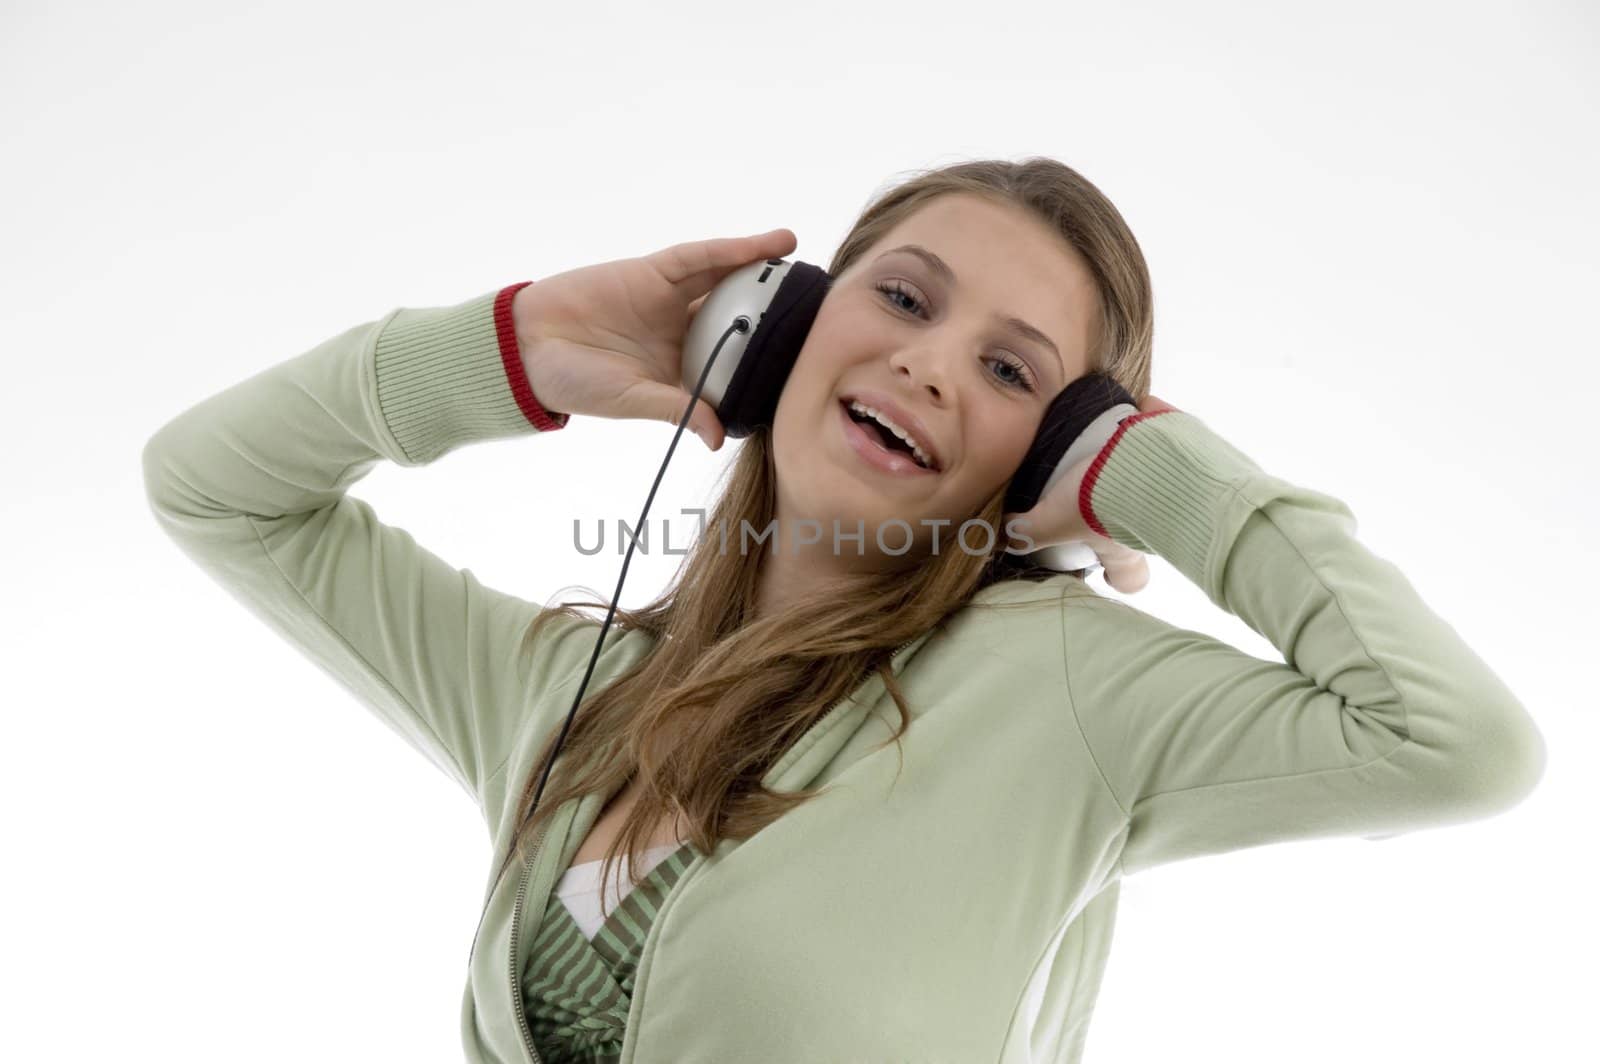
[[[690,392],[690,402],[683,408],[678,429],[667,445],[667,456],[656,472],[645,507],[638,515],[635,528],[645,526],[650,514],[650,502],[656,498],[661,477],[667,472],[672,451],[683,435],[694,403],[706,398],[717,411],[726,435],[742,438],[762,427],[770,427],[778,413],[778,398],[782,395],[784,381],[794,370],[800,349],[805,346],[806,333],[827,296],[834,277],[819,266],[787,259],[765,259],[750,262],[723,277],[715,288],[706,293],[694,320],[690,322],[688,334],[683,339],[683,387]],[[723,349],[726,347],[726,354]],[[718,358],[720,355],[720,358]],[[1069,384],[1045,410],[1034,443],[1029,446],[1022,464],[1006,490],[1006,512],[1022,514],[1034,509],[1056,480],[1085,458],[1099,450],[1115,435],[1117,427],[1130,414],[1139,413],[1138,402],[1120,384],[1104,373],[1090,373]],[[573,707],[566,714],[562,733],[555,739],[549,760],[544,763],[544,774],[533,795],[533,808],[538,808],[544,794],[544,782],[550,778],[555,755],[566,739],[566,730],[578,714],[578,704],[589,686],[595,661],[600,659],[600,646],[605,643],[606,629],[616,614],[616,603],[622,594],[622,581],[627,579],[627,563],[634,557],[637,538],[629,542],[622,557],[622,571],[616,581],[616,592],[611,595],[611,608],[606,610],[605,624],[600,626],[600,637],[595,640],[594,653],[589,654],[589,669],[584,682],[578,685]],[[1026,552],[1029,560],[1045,568],[1098,570],[1098,555],[1083,542],[1069,542]]]

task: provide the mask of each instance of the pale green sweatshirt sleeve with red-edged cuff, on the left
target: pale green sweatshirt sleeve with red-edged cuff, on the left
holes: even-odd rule
[[[523,373],[510,301],[526,283],[390,310],[197,403],[144,446],[166,534],[480,808],[526,693],[558,645],[571,658],[581,622],[558,616],[525,645],[541,606],[446,565],[346,491],[381,459],[424,466],[565,427]]]

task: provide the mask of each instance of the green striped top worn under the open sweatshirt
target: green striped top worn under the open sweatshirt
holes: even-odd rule
[[[547,1064],[610,1064],[622,1053],[634,970],[661,899],[694,861],[683,843],[650,870],[584,938],[566,902],[550,891],[531,955],[522,971],[523,1008],[533,1043]]]

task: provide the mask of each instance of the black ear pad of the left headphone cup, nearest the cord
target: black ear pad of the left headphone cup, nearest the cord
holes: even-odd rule
[[[832,283],[834,277],[819,266],[797,261],[789,267],[717,405],[728,435],[742,438],[773,424],[784,381]]]

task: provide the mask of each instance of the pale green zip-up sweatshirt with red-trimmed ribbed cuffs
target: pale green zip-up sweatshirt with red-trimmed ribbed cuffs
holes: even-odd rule
[[[542,606],[347,491],[379,461],[565,426],[523,373],[520,286],[346,330],[144,448],[166,534],[483,811],[493,858],[461,1008],[474,1064],[555,1056],[533,1045],[520,984],[547,960],[539,915],[610,795],[562,806],[531,861],[488,888],[600,626],[555,618],[525,640]],[[558,450],[528,458],[582,458]],[[912,717],[899,747],[882,746],[899,714],[874,674],[765,778],[824,794],[691,851],[651,914],[608,1059],[1078,1061],[1122,877],[1459,824],[1533,790],[1534,722],[1341,501],[1262,472],[1184,411],[1130,418],[1088,483],[1091,523],[1166,558],[1283,661],[1070,574],[984,589],[894,653]],[[586,694],[650,645],[613,627]]]

